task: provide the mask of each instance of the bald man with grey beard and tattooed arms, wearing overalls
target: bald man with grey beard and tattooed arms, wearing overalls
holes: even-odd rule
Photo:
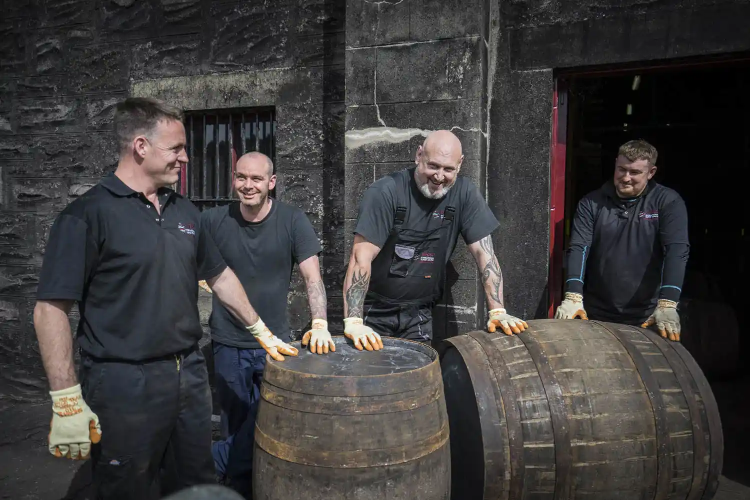
[[[490,238],[499,223],[472,181],[458,176],[458,137],[431,133],[414,163],[375,181],[362,198],[344,280],[344,334],[368,350],[383,347],[380,335],[431,342],[432,308],[443,296],[459,234],[482,276],[487,331],[511,335],[528,328],[503,307]]]

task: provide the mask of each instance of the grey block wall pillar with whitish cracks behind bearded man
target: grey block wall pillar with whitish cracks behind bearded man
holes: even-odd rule
[[[460,175],[484,192],[488,22],[484,0],[347,1],[347,259],[365,188],[412,166],[431,130],[456,133],[465,156]],[[474,329],[484,309],[463,243],[450,271],[435,337]]]

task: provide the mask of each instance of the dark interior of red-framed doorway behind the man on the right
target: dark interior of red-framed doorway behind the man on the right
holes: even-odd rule
[[[568,78],[565,247],[578,200],[612,177],[619,145],[655,145],[655,181],[688,208],[683,344],[714,378],[742,373],[750,352],[748,117],[745,62]]]

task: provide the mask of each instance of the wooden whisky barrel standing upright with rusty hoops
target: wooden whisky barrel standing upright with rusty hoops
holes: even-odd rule
[[[267,358],[254,500],[447,500],[450,448],[437,352],[383,337],[358,351]]]

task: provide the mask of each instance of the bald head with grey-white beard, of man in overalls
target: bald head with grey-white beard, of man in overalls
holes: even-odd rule
[[[417,149],[414,180],[429,199],[446,196],[455,184],[463,162],[461,142],[450,130],[437,130]]]

